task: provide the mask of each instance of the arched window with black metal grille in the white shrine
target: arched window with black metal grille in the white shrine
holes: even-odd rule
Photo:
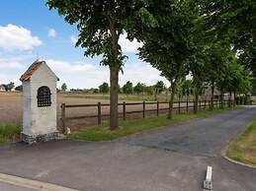
[[[43,106],[50,106],[51,101],[50,101],[50,90],[48,87],[41,87],[38,90],[38,106],[43,107]]]

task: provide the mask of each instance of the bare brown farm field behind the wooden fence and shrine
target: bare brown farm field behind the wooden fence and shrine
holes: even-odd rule
[[[120,102],[123,102],[121,100]],[[97,104],[101,103],[109,103],[109,99],[100,99],[100,98],[83,98],[83,97],[75,97],[75,96],[66,96],[65,94],[57,95],[57,124],[60,125],[60,104]],[[126,102],[141,102],[128,100]],[[185,106],[185,105],[183,105]],[[168,104],[160,104],[160,108],[167,108]],[[155,109],[156,105],[146,105],[146,109]],[[141,110],[142,105],[129,105],[127,107],[127,111]],[[123,111],[123,107],[120,106],[120,112]],[[75,108],[67,108],[66,116],[84,116],[84,115],[97,115],[97,107],[75,107]],[[166,112],[166,111],[162,111]],[[102,114],[109,114],[109,106],[102,107]],[[155,115],[156,113],[151,111],[147,112],[147,116]],[[132,113],[128,114],[128,118],[138,118],[141,117],[142,113]],[[22,93],[0,93],[0,124],[1,123],[22,123],[23,117],[23,94]],[[122,116],[120,116],[122,117]],[[107,120],[107,117],[103,117],[103,120]],[[67,127],[72,130],[78,130],[81,128],[87,128],[88,126],[97,124],[97,118],[87,118],[87,119],[76,119],[70,120],[67,122]]]

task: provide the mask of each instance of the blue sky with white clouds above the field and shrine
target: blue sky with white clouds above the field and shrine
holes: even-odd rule
[[[79,32],[70,26],[56,10],[48,10],[46,0],[1,0],[0,1],[0,85],[14,82],[39,58],[44,60],[68,89],[98,88],[109,83],[109,68],[100,66],[101,56],[85,57],[84,49],[75,47]],[[120,85],[130,81],[147,86],[157,81],[168,81],[160,72],[137,58],[141,43],[129,42],[126,34],[120,38],[123,52],[128,56],[124,75],[120,73]]]

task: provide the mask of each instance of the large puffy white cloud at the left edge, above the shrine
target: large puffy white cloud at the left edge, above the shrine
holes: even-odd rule
[[[12,24],[0,26],[0,33],[0,48],[8,51],[30,50],[42,44],[38,36],[33,36],[29,30]]]

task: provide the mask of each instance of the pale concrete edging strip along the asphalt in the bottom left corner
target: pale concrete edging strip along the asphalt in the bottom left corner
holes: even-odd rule
[[[13,184],[15,186],[21,186],[25,188],[41,190],[41,191],[79,191],[71,188],[66,188],[59,185],[49,184],[37,180],[31,180],[27,178],[12,176],[0,173],[0,181]]]

